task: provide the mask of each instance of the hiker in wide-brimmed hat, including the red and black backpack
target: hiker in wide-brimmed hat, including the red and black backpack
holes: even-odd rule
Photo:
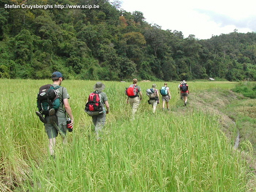
[[[109,113],[109,103],[106,93],[102,92],[105,89],[105,84],[97,82],[93,89],[95,91],[90,93],[84,110],[93,120],[96,139],[99,141],[101,140],[102,128],[106,122],[106,114]]]

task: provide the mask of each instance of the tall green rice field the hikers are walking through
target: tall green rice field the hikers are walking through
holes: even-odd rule
[[[62,86],[71,96],[74,131],[68,133],[65,145],[57,137],[56,158],[50,159],[44,125],[35,114],[39,87],[49,83],[51,80],[0,79],[0,191],[255,190],[250,187],[255,176],[241,151],[234,150],[221,131],[217,115],[197,110],[186,115],[162,112],[162,101],[156,114],[152,113],[146,89],[152,83],[159,89],[164,82],[138,83],[143,100],[134,121],[124,94],[125,87],[132,83],[103,82],[110,113],[103,139],[97,142],[91,117],[84,113],[85,102],[96,82],[64,80]],[[170,105],[185,112],[187,108],[182,107],[177,94],[178,83],[167,85],[172,94]],[[231,89],[235,84],[188,82],[191,93]]]

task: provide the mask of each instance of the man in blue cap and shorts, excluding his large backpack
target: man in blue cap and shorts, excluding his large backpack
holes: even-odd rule
[[[64,77],[59,71],[53,72],[52,86],[56,88],[57,96],[60,99],[59,108],[50,109],[48,115],[45,115],[45,117],[43,117],[43,115],[40,112],[36,112],[40,120],[44,122],[45,131],[49,138],[49,153],[53,158],[54,158],[54,146],[56,144],[56,137],[58,136],[58,133],[60,133],[63,138],[63,144],[66,143],[66,140],[65,140],[66,138],[65,136],[67,134],[66,113],[71,118],[71,123],[68,124],[68,127],[70,129],[73,129],[74,127],[74,117],[72,115],[72,110],[68,102],[68,99],[70,98],[68,91],[65,87],[60,86],[63,80],[64,80]]]

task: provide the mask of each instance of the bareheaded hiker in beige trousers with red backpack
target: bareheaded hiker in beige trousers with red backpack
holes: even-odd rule
[[[138,80],[132,79],[132,83],[125,91],[125,94],[128,96],[126,103],[130,103],[132,107],[132,119],[135,118],[135,113],[139,107],[140,101],[142,100],[142,92],[140,87],[137,85]],[[140,95],[140,98],[139,98]]]

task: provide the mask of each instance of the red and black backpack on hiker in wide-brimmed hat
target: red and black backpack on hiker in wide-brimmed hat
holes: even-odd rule
[[[102,104],[101,104],[101,95],[99,94],[101,92],[94,91],[93,93],[90,93],[88,102],[85,105],[86,111],[101,111],[102,110]]]

